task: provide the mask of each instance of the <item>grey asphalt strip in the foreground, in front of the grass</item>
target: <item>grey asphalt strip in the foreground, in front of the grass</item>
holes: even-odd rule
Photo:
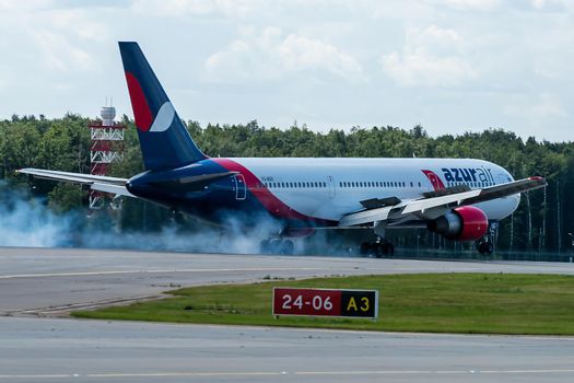
[[[0,318],[0,382],[572,382],[574,338]]]

